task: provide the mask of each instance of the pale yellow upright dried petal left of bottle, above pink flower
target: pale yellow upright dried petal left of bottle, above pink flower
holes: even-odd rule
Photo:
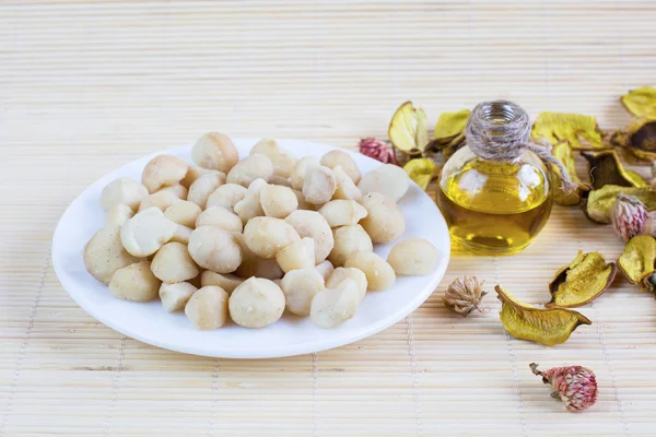
[[[421,108],[414,108],[412,102],[406,102],[394,114],[388,129],[391,144],[412,156],[419,156],[429,143],[426,115]]]

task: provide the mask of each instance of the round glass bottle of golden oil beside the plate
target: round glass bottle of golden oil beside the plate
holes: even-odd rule
[[[494,147],[495,140],[507,143],[508,139],[500,135],[506,134],[505,127],[519,122],[522,116],[522,122],[529,122],[524,121],[528,120],[524,109],[506,101],[483,103],[471,115],[476,116],[499,128],[487,132],[493,139],[487,147]],[[528,129],[529,132],[530,125]],[[452,239],[477,253],[519,252],[538,235],[551,213],[548,170],[529,150],[519,146],[512,160],[490,160],[475,153],[469,135],[467,140],[468,144],[446,162],[436,189],[437,204]]]

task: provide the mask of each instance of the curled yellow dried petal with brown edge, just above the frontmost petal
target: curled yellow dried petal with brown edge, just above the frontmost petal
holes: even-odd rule
[[[573,308],[588,304],[610,286],[616,273],[616,263],[607,263],[601,253],[579,250],[574,261],[555,273],[549,284],[551,302],[544,306]]]

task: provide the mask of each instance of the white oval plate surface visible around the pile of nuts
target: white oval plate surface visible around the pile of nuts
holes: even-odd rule
[[[246,156],[256,141],[235,140],[239,155]],[[280,140],[279,143],[296,156],[320,157],[335,149],[306,141]],[[159,300],[137,304],[113,297],[106,285],[86,272],[82,259],[84,245],[103,225],[101,191],[119,177],[141,180],[143,167],[159,154],[169,153],[191,163],[190,150],[187,145],[154,153],[112,172],[84,190],[57,225],[52,264],[59,281],[78,305],[109,328],[144,343],[188,354],[226,358],[300,355],[349,344],[390,327],[417,309],[444,276],[450,249],[446,223],[431,198],[412,184],[399,201],[407,224],[402,238],[423,237],[432,241],[438,252],[435,270],[426,276],[399,276],[391,288],[368,292],[355,317],[336,329],[319,329],[309,318],[285,312],[281,320],[263,329],[232,323],[214,331],[198,331],[184,312],[166,312]],[[361,154],[351,155],[363,174],[380,165]],[[386,258],[390,248],[391,245],[378,245],[375,251]]]

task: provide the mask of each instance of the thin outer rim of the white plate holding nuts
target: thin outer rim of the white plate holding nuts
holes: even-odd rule
[[[248,142],[251,144],[255,144],[255,142],[257,140],[259,140],[259,138],[250,138],[249,137],[249,138],[234,138],[233,139],[233,141],[235,141],[235,142]],[[318,142],[314,142],[314,141],[286,139],[286,138],[277,139],[277,141],[279,141],[280,143],[284,143],[284,142],[305,143],[305,144],[313,145],[313,146],[319,146],[321,149],[341,150],[341,151],[349,153],[350,155],[360,155],[356,152],[348,150],[348,149],[338,147],[338,146],[333,146],[333,145],[326,144],[326,143],[318,143]],[[368,336],[372,336],[378,332],[386,330],[387,328],[391,327],[393,324],[401,321],[403,318],[409,317],[417,308],[419,308],[425,300],[427,300],[427,298],[435,292],[440,282],[444,279],[446,269],[450,261],[450,246],[452,246],[450,245],[450,236],[448,234],[448,228],[446,226],[446,222],[444,220],[444,216],[442,215],[442,212],[440,211],[440,209],[437,208],[437,205],[435,204],[433,199],[431,199],[431,197],[425,192],[425,190],[423,190],[417,184],[411,181],[412,185],[414,185],[419,190],[422,191],[422,196],[425,196],[429,198],[429,200],[431,201],[431,203],[433,204],[433,206],[435,208],[435,210],[437,212],[438,220],[443,223],[444,228],[447,229],[447,234],[445,236],[446,239],[444,243],[445,249],[446,249],[445,255],[438,260],[437,265],[435,267],[435,271],[433,273],[431,273],[431,275],[432,275],[431,281],[429,283],[426,283],[426,285],[424,285],[424,288],[422,290],[421,293],[415,295],[414,298],[408,300],[408,303],[403,307],[401,307],[398,311],[393,312],[390,316],[366,324],[365,329],[360,330],[356,334],[345,335],[347,336],[345,340],[343,336],[336,336],[336,338],[323,339],[320,342],[305,341],[302,343],[295,343],[295,344],[288,345],[278,353],[276,353],[276,352],[271,353],[272,351],[267,350],[267,349],[256,350],[253,347],[239,350],[238,353],[231,353],[229,351],[221,351],[221,350],[219,350],[219,351],[214,350],[214,351],[210,352],[207,349],[199,349],[194,345],[181,345],[180,346],[177,344],[169,344],[164,341],[161,341],[157,338],[142,335],[138,331],[133,331],[129,328],[121,326],[120,323],[115,322],[115,320],[112,317],[106,316],[105,312],[103,312],[103,311],[97,311],[96,308],[93,307],[93,305],[87,305],[85,299],[80,298],[81,296],[79,294],[72,293],[70,291],[72,288],[78,287],[78,285],[73,284],[72,281],[69,281],[68,274],[65,274],[66,269],[63,268],[63,265],[61,265],[62,259],[60,257],[56,256],[56,253],[59,252],[57,249],[60,247],[60,245],[63,244],[63,238],[65,238],[63,234],[65,233],[62,231],[62,227],[63,227],[62,224],[65,223],[65,218],[67,218],[68,214],[71,213],[71,208],[72,208],[73,203],[79,201],[81,198],[83,198],[87,191],[95,189],[97,186],[106,185],[108,179],[114,180],[114,176],[110,177],[110,175],[114,172],[119,170],[122,167],[128,166],[138,160],[145,160],[147,157],[149,160],[151,160],[161,154],[174,153],[174,151],[179,151],[179,150],[190,149],[190,147],[192,147],[192,144],[187,143],[187,144],[183,144],[183,145],[179,145],[176,147],[169,147],[169,149],[156,151],[151,154],[138,156],[138,157],[131,160],[130,162],[128,162],[117,168],[114,168],[113,170],[103,175],[101,178],[98,178],[93,184],[87,186],[80,193],[78,193],[75,196],[75,198],[68,204],[63,214],[61,214],[59,221],[57,222],[55,233],[52,234],[50,256],[51,256],[51,260],[52,260],[52,268],[54,268],[55,274],[57,275],[59,283],[61,284],[62,288],[67,292],[67,294],[73,299],[73,302],[75,302],[75,304],[80,308],[82,308],[90,317],[94,318],[95,320],[99,321],[101,323],[105,324],[106,327],[113,329],[114,331],[116,331],[122,335],[126,335],[128,338],[138,340],[142,343],[153,345],[155,347],[174,351],[174,352],[178,352],[178,353],[184,353],[184,354],[198,355],[198,356],[220,357],[220,358],[241,358],[241,359],[261,359],[261,358],[279,358],[279,357],[288,357],[288,356],[297,356],[297,355],[304,355],[304,354],[309,354],[309,353],[327,351],[327,350],[331,350],[331,349],[336,349],[336,347],[340,347],[340,346],[345,346],[345,345],[352,344],[354,342],[366,339]],[[360,156],[362,156],[366,160],[375,161],[365,155],[360,155]],[[378,163],[378,162],[376,161],[376,163]],[[80,257],[82,257],[82,253],[80,253]],[[244,329],[247,329],[247,328],[244,328]]]

